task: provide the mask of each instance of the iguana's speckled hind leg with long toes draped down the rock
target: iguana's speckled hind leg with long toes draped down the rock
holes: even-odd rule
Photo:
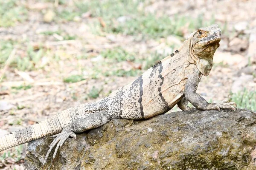
[[[102,126],[109,121],[110,121],[110,118],[108,118],[108,116],[106,116],[105,112],[103,112],[103,111],[92,113],[85,118],[75,119],[74,122],[70,123],[70,125],[65,127],[61,131],[61,133],[59,133],[58,136],[52,141],[52,143],[49,146],[49,150],[45,156],[43,166],[46,163],[50,152],[52,151],[52,149],[55,147],[56,144],[57,145],[56,145],[55,151],[52,156],[53,160],[56,156],[58,148],[61,147],[69,137],[76,139],[75,133],[81,133],[81,132],[84,132],[85,130],[89,130],[89,129],[93,129],[93,128]]]

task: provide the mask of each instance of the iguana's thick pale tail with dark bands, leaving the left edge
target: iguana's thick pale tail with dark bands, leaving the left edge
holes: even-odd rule
[[[39,122],[38,124],[15,131],[12,134],[0,138],[0,152],[44,136],[60,133],[64,127],[70,124],[71,119],[75,118],[73,112],[75,108],[64,110],[46,121]]]

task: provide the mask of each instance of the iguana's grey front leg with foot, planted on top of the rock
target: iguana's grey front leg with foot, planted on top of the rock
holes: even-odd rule
[[[199,110],[219,110],[220,108],[229,108],[236,110],[235,102],[228,102],[226,100],[216,103],[208,103],[202,96],[197,94],[195,91],[198,87],[198,83],[201,80],[202,74],[199,71],[195,71],[194,74],[191,74],[185,84],[185,98]],[[234,107],[235,106],[235,107]]]

